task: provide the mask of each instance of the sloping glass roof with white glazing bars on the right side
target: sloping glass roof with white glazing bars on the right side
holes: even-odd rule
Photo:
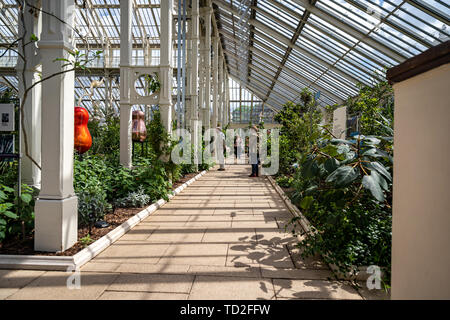
[[[449,39],[450,1],[213,0],[231,75],[280,108],[310,88],[323,104]],[[248,56],[240,54],[245,44]],[[246,67],[242,67],[246,66]]]

